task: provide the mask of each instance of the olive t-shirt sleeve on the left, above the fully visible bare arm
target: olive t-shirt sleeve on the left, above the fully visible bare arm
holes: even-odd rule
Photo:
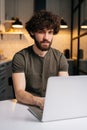
[[[24,56],[21,53],[16,53],[12,60],[12,72],[24,72]]]

